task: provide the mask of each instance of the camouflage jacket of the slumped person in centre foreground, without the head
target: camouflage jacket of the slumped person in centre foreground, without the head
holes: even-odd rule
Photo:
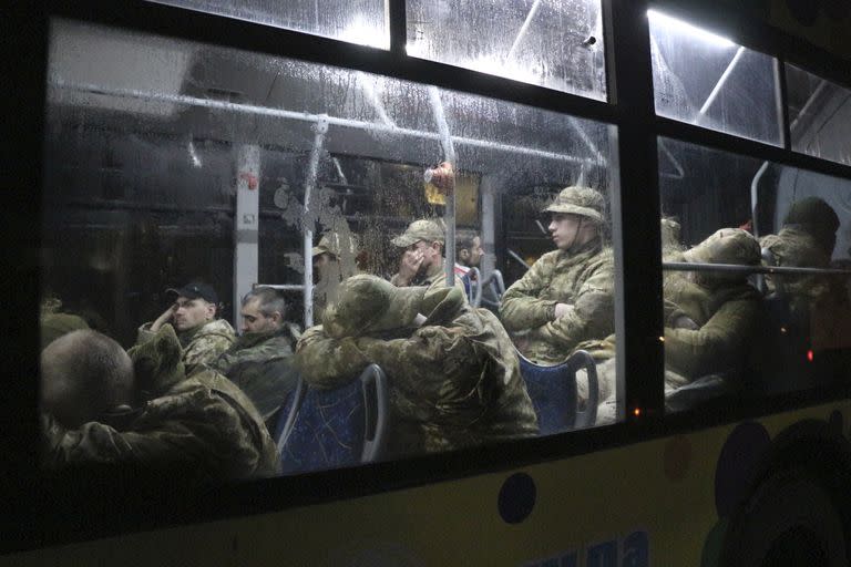
[[[445,298],[423,327],[400,338],[331,339],[309,329],[296,351],[301,375],[334,388],[379,364],[390,384],[391,456],[535,435],[532,401],[499,320],[458,291],[438,292]]]

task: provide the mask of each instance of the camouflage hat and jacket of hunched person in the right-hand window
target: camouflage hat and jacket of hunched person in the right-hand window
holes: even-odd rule
[[[759,264],[759,244],[749,233],[722,228],[684,254],[686,261]],[[697,272],[696,281],[670,278],[665,282],[665,362],[685,382],[715,372],[741,369],[759,326],[760,296],[741,274]],[[696,329],[675,328],[680,316]],[[683,385],[671,374],[669,385]],[[683,382],[683,383],[685,383]]]

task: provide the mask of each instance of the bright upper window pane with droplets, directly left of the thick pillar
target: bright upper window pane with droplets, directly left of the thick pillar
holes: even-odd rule
[[[409,55],[606,99],[598,0],[408,2]]]

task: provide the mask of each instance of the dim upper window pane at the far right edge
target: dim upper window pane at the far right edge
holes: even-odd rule
[[[851,164],[851,90],[786,65],[792,150]]]

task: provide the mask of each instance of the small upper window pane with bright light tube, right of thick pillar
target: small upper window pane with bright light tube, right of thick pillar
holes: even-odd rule
[[[781,145],[775,60],[648,12],[656,113]]]

